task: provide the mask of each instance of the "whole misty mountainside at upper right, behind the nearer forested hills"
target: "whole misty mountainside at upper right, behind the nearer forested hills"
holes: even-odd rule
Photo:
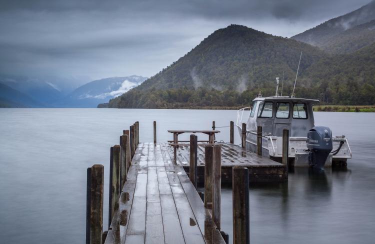
[[[374,39],[375,0],[342,16],[292,36],[292,39],[319,46],[331,53],[348,53]],[[359,43],[356,43],[359,41]]]

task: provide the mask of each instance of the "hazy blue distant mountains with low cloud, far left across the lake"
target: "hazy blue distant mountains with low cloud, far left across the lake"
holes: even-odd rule
[[[96,107],[143,82],[131,75],[94,80],[78,88],[56,79],[0,76],[0,107]]]

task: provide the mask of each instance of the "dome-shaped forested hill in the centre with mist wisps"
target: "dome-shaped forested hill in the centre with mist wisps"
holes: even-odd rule
[[[175,89],[186,92],[200,89],[203,93],[210,89],[234,93],[246,89],[258,92],[259,88],[270,87],[273,90],[276,76],[281,78],[284,72],[285,79],[295,77],[301,50],[300,74],[325,56],[318,48],[303,42],[232,24],[214,31],[183,57],[141,85],[111,99],[109,106],[165,107],[173,102],[174,96],[177,100],[182,99],[180,102],[186,102],[183,94],[172,94]],[[200,104],[197,103],[200,98],[191,99],[196,100],[192,102],[194,105]],[[225,101],[221,102],[221,105],[225,105]],[[208,102],[205,105],[212,104]]]

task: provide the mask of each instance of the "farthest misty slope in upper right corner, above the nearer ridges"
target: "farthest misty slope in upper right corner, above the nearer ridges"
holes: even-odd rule
[[[336,35],[373,19],[375,19],[375,0],[352,12],[332,18],[311,29],[294,35],[291,38],[314,46],[325,46],[328,42],[333,41]]]

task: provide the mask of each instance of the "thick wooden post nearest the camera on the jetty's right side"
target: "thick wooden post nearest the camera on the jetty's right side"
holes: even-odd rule
[[[248,169],[232,168],[233,244],[250,243]]]

